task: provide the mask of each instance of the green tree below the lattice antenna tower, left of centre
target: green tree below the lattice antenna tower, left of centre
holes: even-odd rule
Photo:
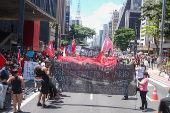
[[[84,38],[93,38],[94,35],[96,35],[96,32],[94,29],[88,28],[88,27],[83,27],[82,25],[73,25],[70,26],[71,30],[69,31],[69,35],[71,36],[70,39],[76,40],[76,43],[79,44],[81,43]]]

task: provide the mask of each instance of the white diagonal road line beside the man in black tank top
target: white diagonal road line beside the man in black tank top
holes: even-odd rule
[[[37,95],[39,94],[39,92],[36,92],[34,93],[33,95],[31,95],[30,97],[28,97],[26,100],[24,100],[22,103],[21,103],[21,108],[23,106],[25,106],[28,102],[30,102],[34,97],[36,97]],[[18,108],[18,105],[16,106],[16,108]],[[13,113],[14,110],[12,109],[11,111],[9,111],[8,113]]]

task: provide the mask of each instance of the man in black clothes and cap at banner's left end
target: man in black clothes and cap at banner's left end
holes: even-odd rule
[[[45,105],[45,95],[48,94],[49,91],[49,75],[50,75],[50,70],[49,68],[51,67],[50,65],[50,60],[45,60],[45,67],[41,68],[42,71],[42,85],[41,85],[41,90],[40,93],[38,95],[38,103],[37,106],[42,106],[43,108],[48,108],[47,105]],[[42,104],[40,103],[41,100],[41,96],[42,96]]]

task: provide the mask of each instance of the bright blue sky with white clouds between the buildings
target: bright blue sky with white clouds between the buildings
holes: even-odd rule
[[[126,0],[80,0],[80,15],[83,26],[95,29],[98,34],[102,25],[111,21],[113,10],[119,11],[125,2]],[[72,0],[72,19],[75,19],[77,8],[78,0]]]

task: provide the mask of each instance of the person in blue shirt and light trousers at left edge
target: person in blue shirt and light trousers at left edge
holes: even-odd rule
[[[4,66],[5,67],[3,67],[0,70],[0,81],[2,82],[2,85],[3,85],[1,99],[3,101],[5,101],[6,91],[7,91],[7,88],[8,88],[8,84],[5,80],[8,80],[9,76],[12,76],[11,73],[9,73],[9,68],[10,68],[9,62],[5,62]],[[0,107],[1,107],[0,109],[4,109],[3,103],[1,103]]]

